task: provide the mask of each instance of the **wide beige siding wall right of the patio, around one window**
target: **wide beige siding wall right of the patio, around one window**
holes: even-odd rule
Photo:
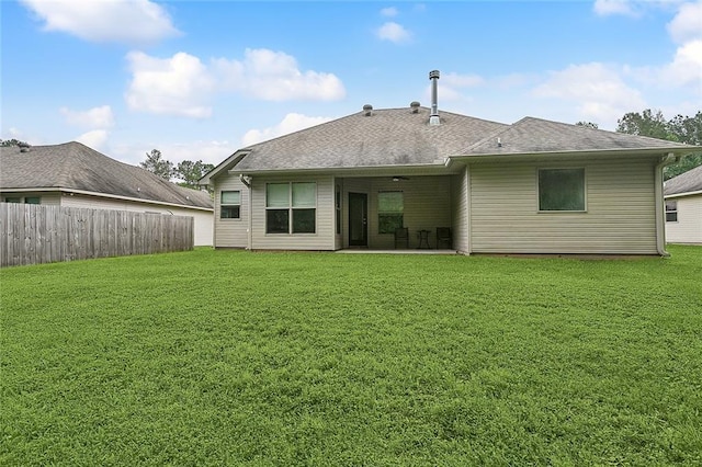
[[[585,213],[539,213],[539,168],[585,168]],[[471,248],[656,254],[655,160],[473,164]]]

